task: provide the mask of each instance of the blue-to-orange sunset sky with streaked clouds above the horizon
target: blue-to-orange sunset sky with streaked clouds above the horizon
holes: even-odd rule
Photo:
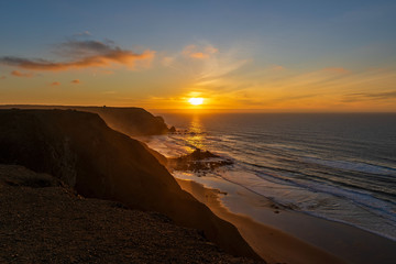
[[[382,0],[1,0],[0,105],[395,112],[395,13]]]

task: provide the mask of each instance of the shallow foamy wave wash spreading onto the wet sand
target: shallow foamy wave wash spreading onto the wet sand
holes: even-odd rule
[[[287,179],[282,183],[279,178],[268,176],[258,177],[244,170],[235,170],[223,174],[222,178],[289,210],[349,223],[396,241],[395,202],[376,199],[369,193],[340,189],[315,182]],[[351,217],[352,212],[354,219]]]

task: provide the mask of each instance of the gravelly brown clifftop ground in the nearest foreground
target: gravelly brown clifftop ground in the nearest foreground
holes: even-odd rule
[[[256,263],[157,212],[86,199],[59,180],[0,165],[0,263]]]

